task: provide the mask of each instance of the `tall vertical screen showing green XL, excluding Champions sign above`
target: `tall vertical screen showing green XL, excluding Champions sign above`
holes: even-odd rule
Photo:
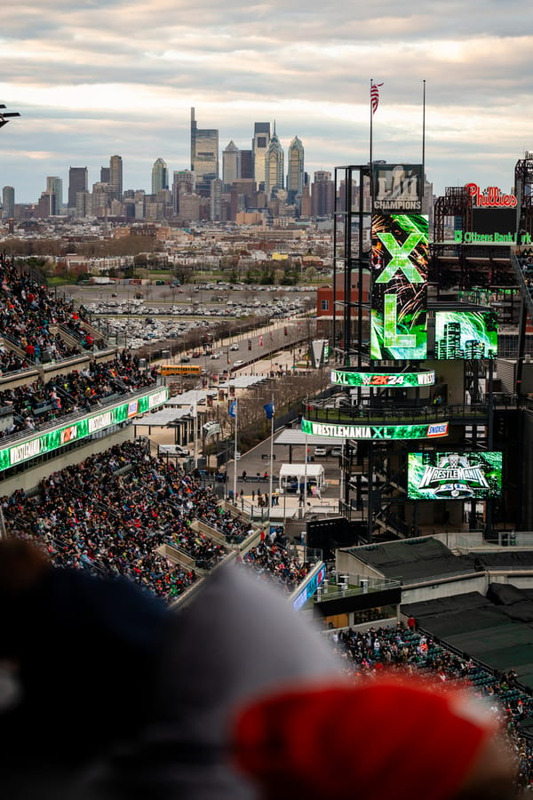
[[[426,358],[427,236],[426,215],[372,215],[371,358]]]

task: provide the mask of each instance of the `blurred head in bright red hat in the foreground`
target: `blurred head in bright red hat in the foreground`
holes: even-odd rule
[[[263,695],[237,714],[233,750],[262,800],[518,796],[494,713],[410,678]]]

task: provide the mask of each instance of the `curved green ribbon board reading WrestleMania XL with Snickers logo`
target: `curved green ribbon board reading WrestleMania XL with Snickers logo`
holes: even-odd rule
[[[302,420],[301,429],[311,436],[338,436],[345,439],[434,439],[448,436],[448,422],[421,425],[353,425],[349,422]]]

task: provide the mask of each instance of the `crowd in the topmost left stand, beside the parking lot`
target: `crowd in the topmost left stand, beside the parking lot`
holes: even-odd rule
[[[76,309],[72,300],[56,298],[46,286],[27,273],[20,272],[0,253],[0,330],[9,346],[0,350],[2,374],[27,369],[43,360],[60,361],[91,349],[97,341],[86,327],[83,308]],[[60,334],[63,328],[76,343],[68,343]],[[103,338],[100,337],[103,343]]]

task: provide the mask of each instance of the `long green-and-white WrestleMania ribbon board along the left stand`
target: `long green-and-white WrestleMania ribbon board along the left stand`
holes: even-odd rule
[[[155,391],[152,390],[146,395],[130,400],[129,403],[111,405],[96,414],[84,417],[83,420],[70,422],[62,428],[48,430],[39,436],[28,436],[19,444],[12,444],[11,447],[0,449],[0,470],[15,467],[23,461],[35,459],[44,452],[57,450],[64,444],[74,442],[75,439],[83,439],[105,428],[111,428],[119,422],[131,420],[139,414],[166,403],[168,396],[167,387],[157,388]]]

